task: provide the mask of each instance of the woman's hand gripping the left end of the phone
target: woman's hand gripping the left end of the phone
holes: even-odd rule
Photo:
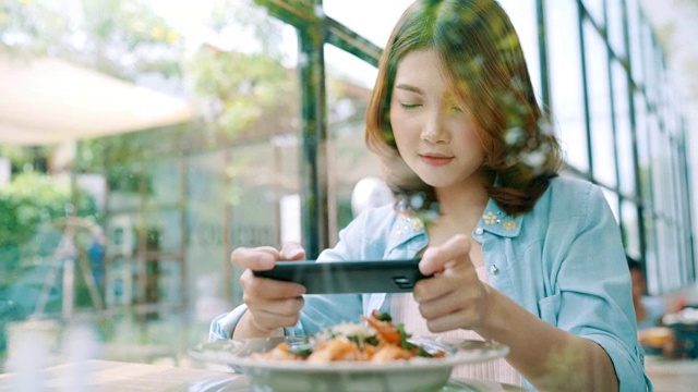
[[[296,243],[285,244],[280,252],[269,246],[239,247],[232,252],[232,265],[244,268],[240,285],[242,302],[248,306],[248,311],[233,331],[234,339],[265,338],[284,327],[296,326],[303,308],[302,294],[305,287],[298,283],[255,277],[252,271],[270,270],[277,261],[302,260],[304,257],[305,250]]]

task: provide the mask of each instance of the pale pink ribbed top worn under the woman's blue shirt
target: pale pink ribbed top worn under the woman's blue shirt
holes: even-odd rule
[[[477,268],[478,278],[488,281],[484,267]],[[396,323],[402,322],[406,331],[414,336],[418,335],[440,335],[458,339],[484,340],[478,333],[470,330],[453,330],[448,332],[433,333],[426,328],[426,320],[419,313],[419,307],[412,294],[394,294],[392,303],[392,315]],[[478,380],[504,382],[514,385],[522,385],[521,375],[516,371],[504,358],[496,358],[479,364],[466,364],[454,368],[454,377],[465,377]]]

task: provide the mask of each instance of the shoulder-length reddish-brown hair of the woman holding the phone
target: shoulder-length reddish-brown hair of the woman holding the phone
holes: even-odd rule
[[[431,186],[405,170],[389,118],[398,64],[423,49],[438,54],[455,97],[470,108],[485,151],[483,167],[497,179],[496,186],[485,184],[490,197],[509,215],[531,210],[557,175],[559,144],[535,100],[518,35],[494,0],[418,0],[393,29],[380,60],[365,134],[366,145],[388,169],[388,185],[397,193],[435,197]]]

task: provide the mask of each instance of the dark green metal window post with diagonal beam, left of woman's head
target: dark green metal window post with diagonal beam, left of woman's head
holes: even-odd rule
[[[330,243],[328,197],[327,110],[324,46],[329,44],[377,65],[382,49],[328,17],[322,0],[256,0],[269,14],[292,25],[298,33],[298,68],[301,95],[301,236],[309,258],[316,258]]]

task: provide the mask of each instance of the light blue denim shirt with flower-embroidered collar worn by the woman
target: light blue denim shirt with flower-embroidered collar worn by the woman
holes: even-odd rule
[[[490,200],[472,237],[482,244],[490,285],[550,324],[601,345],[621,391],[652,390],[637,342],[619,229],[598,186],[556,177],[533,210],[517,217]],[[385,206],[357,217],[318,259],[413,258],[428,243],[419,219]],[[356,322],[373,309],[389,311],[389,294],[306,295],[300,321],[287,334]],[[230,339],[243,313],[241,306],[213,320],[210,339]]]

